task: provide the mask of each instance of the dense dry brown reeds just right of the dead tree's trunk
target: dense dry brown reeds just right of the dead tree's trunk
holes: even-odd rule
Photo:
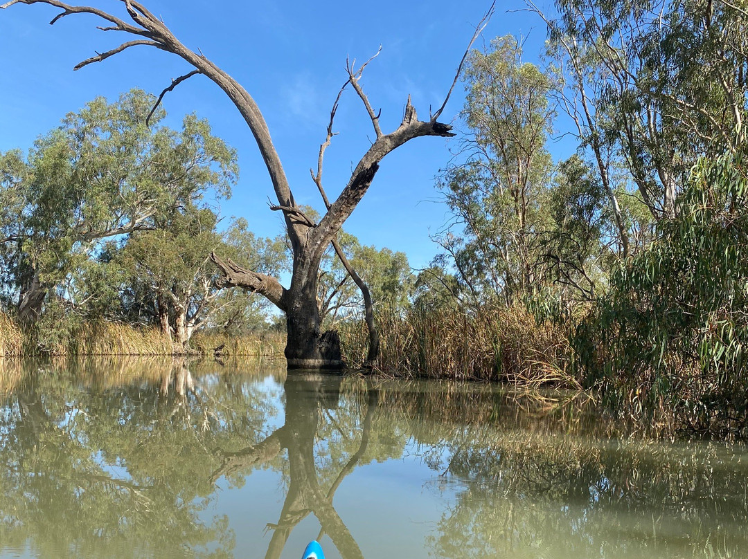
[[[501,380],[515,386],[580,386],[572,374],[565,330],[538,321],[524,306],[381,309],[377,315],[381,371],[434,378]],[[343,354],[360,367],[367,353],[361,321],[340,326]]]

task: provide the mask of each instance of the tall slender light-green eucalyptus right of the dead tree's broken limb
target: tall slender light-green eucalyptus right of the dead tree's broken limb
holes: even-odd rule
[[[462,236],[448,233],[440,242],[473,298],[511,300],[540,280],[533,247],[545,229],[542,192],[553,168],[545,140],[554,108],[550,78],[521,56],[511,35],[470,54],[467,161],[447,169],[439,185],[462,227]]]

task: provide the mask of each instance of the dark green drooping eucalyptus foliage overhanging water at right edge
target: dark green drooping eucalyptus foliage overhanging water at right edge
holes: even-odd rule
[[[589,380],[634,413],[674,408],[694,428],[748,420],[747,163],[699,161],[678,217],[613,274],[577,333]]]

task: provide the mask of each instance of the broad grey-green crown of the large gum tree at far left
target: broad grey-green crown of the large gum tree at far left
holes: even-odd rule
[[[180,132],[152,127],[154,99],[132,90],[68,114],[24,159],[0,157],[2,266],[22,321],[40,317],[47,292],[106,238],[154,229],[163,216],[198,203],[209,189],[230,194],[236,153],[188,115]]]

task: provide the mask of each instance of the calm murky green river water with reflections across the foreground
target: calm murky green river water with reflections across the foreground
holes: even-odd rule
[[[1,558],[748,557],[743,445],[577,398],[273,365],[0,363]]]

